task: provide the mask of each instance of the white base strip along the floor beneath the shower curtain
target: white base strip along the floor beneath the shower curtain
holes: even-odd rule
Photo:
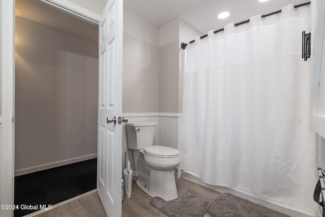
[[[217,185],[211,185],[211,184],[204,183],[200,177],[198,177],[195,174],[192,174],[191,172],[188,172],[188,171],[182,171],[182,178],[196,182],[198,184],[201,184],[205,187],[208,187],[210,189],[216,190],[221,193],[229,193],[229,194],[235,195],[237,197],[249,200],[253,203],[257,203],[262,206],[266,206],[270,209],[274,209],[276,211],[282,212],[282,213],[290,215],[290,216],[295,216],[295,217],[313,216],[309,211],[307,211],[303,208],[294,206],[294,205],[285,204],[285,203],[281,203],[281,202],[273,201],[273,200],[257,198],[254,195],[250,195],[244,191],[240,191],[237,189],[231,189],[231,188],[227,188],[227,187],[223,187],[223,186],[217,186]]]

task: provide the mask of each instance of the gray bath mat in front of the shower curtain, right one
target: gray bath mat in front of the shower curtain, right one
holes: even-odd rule
[[[289,217],[286,214],[269,209],[231,194],[221,194],[215,199],[208,213],[212,217]]]

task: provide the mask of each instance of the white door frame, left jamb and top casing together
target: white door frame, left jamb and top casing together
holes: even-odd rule
[[[0,114],[0,204],[14,204],[15,174],[15,0],[0,0],[2,10],[2,111]],[[101,15],[67,0],[37,0],[51,8],[99,26]],[[0,216],[13,210],[0,209]]]

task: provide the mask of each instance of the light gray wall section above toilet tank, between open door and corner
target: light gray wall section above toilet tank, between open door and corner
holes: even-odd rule
[[[159,112],[159,27],[123,12],[123,113]]]

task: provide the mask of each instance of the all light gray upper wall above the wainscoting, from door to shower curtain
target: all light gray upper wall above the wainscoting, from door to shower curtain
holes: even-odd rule
[[[123,113],[182,112],[180,43],[199,35],[180,18],[159,28],[124,10]]]

